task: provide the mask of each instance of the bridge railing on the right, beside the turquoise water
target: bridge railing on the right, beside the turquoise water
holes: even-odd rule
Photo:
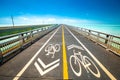
[[[91,39],[92,41],[100,44],[105,47],[107,50],[110,50],[117,55],[120,55],[120,37],[114,36],[94,30],[89,30],[85,28],[76,28],[75,29],[80,34]]]

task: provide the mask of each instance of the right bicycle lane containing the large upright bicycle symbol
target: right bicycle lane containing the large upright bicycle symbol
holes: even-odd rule
[[[75,38],[76,35],[73,36],[73,33],[67,27],[65,27],[64,30],[68,58],[67,61],[69,66],[69,79],[116,80],[116,78],[104,67],[104,65],[102,65],[101,68],[101,63],[99,64],[93,59],[93,57],[91,57],[88,50],[85,49],[85,46],[81,45]],[[74,53],[77,53],[80,56],[76,57],[74,56]],[[75,58],[77,59],[76,64],[78,65],[74,63]]]

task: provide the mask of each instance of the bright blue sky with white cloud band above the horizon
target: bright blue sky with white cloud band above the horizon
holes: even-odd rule
[[[120,24],[120,0],[0,0],[0,25]]]

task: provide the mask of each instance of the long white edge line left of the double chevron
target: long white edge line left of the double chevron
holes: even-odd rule
[[[59,27],[60,28],[60,27]],[[38,56],[41,50],[45,47],[45,45],[53,38],[53,36],[57,33],[59,28],[51,35],[51,37],[44,43],[44,45],[35,53],[35,55],[28,61],[28,63],[20,70],[20,72],[13,78],[13,80],[18,80],[20,76],[24,73],[24,71],[30,66],[33,60]]]

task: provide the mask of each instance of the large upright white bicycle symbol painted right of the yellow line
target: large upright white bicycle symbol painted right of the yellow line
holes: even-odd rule
[[[74,54],[70,56],[69,60],[70,60],[70,66],[74,74],[76,74],[77,76],[81,76],[82,73],[81,65],[82,65],[87,71],[87,73],[90,72],[95,77],[100,78],[100,72],[98,68],[89,57],[83,56],[81,52],[75,52],[75,50],[73,50],[73,53]],[[78,69],[76,70],[76,66],[78,67],[79,70]]]

